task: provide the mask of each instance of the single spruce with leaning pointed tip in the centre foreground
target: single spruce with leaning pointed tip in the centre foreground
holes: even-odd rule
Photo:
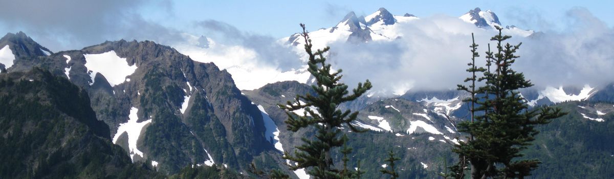
[[[313,127],[317,129],[315,139],[303,137],[303,144],[298,146],[293,154],[284,151],[284,159],[290,160],[296,165],[290,165],[290,169],[309,169],[309,175],[316,178],[342,178],[341,170],[336,169],[333,164],[332,149],[341,147],[346,139],[341,135],[341,126],[350,128],[354,132],[363,132],[355,128],[352,121],[356,120],[358,112],[346,110],[342,112],[338,109],[343,102],[353,101],[371,88],[371,82],[358,83],[352,94],[348,92],[348,85],[341,83],[341,69],[334,72],[331,65],[326,63],[325,53],[330,49],[318,49],[312,51],[311,39],[301,24],[303,32],[301,36],[305,39],[305,52],[309,56],[308,71],[316,79],[316,84],[311,88],[316,92],[315,95],[297,95],[293,102],[288,101],[286,105],[279,105],[286,110],[288,115],[288,130],[297,132],[303,128]],[[304,109],[303,115],[295,115],[292,111]],[[347,152],[348,149],[344,149]],[[348,171],[348,170],[345,170]],[[348,176],[348,173],[344,174]]]

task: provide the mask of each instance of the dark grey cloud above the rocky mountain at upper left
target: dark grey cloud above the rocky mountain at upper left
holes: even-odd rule
[[[166,0],[24,0],[2,3],[0,24],[10,27],[9,31],[25,31],[53,51],[122,38],[158,42],[179,37],[175,30],[144,20],[136,13],[150,4],[173,13],[172,2]]]

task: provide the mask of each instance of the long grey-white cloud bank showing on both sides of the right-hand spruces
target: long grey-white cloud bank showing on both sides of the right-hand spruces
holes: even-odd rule
[[[538,88],[545,86],[604,86],[614,82],[614,30],[588,10],[567,13],[564,31],[513,36],[510,44],[523,42],[513,69],[523,72]],[[471,33],[475,34],[484,66],[484,51],[494,29],[484,30],[456,17],[426,17],[399,25],[401,39],[367,44],[331,44],[333,66],[344,70],[348,85],[373,82],[373,91],[392,94],[405,90],[454,90],[468,77]]]

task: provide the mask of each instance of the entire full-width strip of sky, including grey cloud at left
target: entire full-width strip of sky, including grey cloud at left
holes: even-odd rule
[[[0,34],[26,32],[51,50],[71,50],[105,40],[181,39],[184,32],[209,36],[203,21],[214,21],[241,34],[279,39],[300,31],[336,25],[346,13],[368,15],[384,7],[395,15],[459,17],[480,7],[497,13],[503,25],[535,31],[567,31],[567,12],[585,8],[605,25],[614,25],[612,1],[22,1],[2,2]]]

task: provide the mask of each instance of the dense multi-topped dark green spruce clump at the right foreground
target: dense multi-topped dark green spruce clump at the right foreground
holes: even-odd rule
[[[534,127],[538,124],[550,123],[554,118],[565,115],[560,109],[551,107],[537,107],[529,109],[524,104],[525,99],[519,95],[518,90],[532,86],[529,80],[525,80],[523,73],[511,69],[519,56],[516,56],[518,45],[503,44],[503,41],[511,36],[503,36],[502,28],[497,26],[499,34],[491,40],[497,43],[496,53],[490,49],[486,52],[488,70],[483,72],[483,77],[478,82],[484,81],[484,86],[475,90],[475,78],[473,75],[465,82],[471,81],[469,88],[459,85],[459,90],[470,93],[479,92],[482,97],[467,101],[472,104],[472,113],[482,112],[474,116],[473,121],[459,123],[460,132],[470,136],[467,142],[460,142],[453,151],[459,154],[459,163],[451,167],[456,178],[464,178],[464,170],[467,162],[471,168],[471,178],[524,178],[530,175],[540,164],[537,159],[516,159],[523,156],[520,151],[531,145],[534,136],[539,133]],[[475,73],[476,47],[472,44],[472,63],[467,71]],[[494,71],[490,70],[494,65]],[[473,107],[478,105],[477,107]]]

